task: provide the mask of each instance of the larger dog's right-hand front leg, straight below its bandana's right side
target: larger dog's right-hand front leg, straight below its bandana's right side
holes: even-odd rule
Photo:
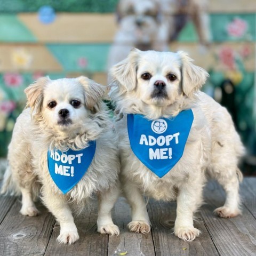
[[[177,197],[177,217],[174,234],[184,241],[193,241],[201,233],[193,225],[193,212],[202,203],[202,184],[193,182],[179,187]]]

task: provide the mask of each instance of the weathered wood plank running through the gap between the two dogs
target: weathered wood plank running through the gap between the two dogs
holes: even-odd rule
[[[131,209],[124,198],[119,198],[113,211],[113,220],[121,234],[109,237],[108,256],[127,252],[127,255],[155,255],[151,233],[131,233],[127,224],[131,221]]]

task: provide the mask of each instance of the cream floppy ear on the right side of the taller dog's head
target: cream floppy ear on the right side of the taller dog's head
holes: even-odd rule
[[[203,86],[209,74],[194,65],[188,53],[179,51],[178,54],[181,59],[182,90],[189,97]]]

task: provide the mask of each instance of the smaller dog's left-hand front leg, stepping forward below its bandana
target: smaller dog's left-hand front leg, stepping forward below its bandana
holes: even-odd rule
[[[46,189],[45,189],[46,190]],[[62,244],[72,244],[79,239],[71,209],[63,195],[49,193],[43,189],[43,201],[46,207],[60,223],[60,235],[57,241]]]

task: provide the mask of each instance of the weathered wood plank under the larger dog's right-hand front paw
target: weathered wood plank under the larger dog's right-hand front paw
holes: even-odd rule
[[[156,255],[219,255],[198,214],[195,227],[201,230],[202,234],[195,241],[185,242],[172,234],[176,207],[175,202],[157,202],[152,199],[149,201],[148,212]]]

